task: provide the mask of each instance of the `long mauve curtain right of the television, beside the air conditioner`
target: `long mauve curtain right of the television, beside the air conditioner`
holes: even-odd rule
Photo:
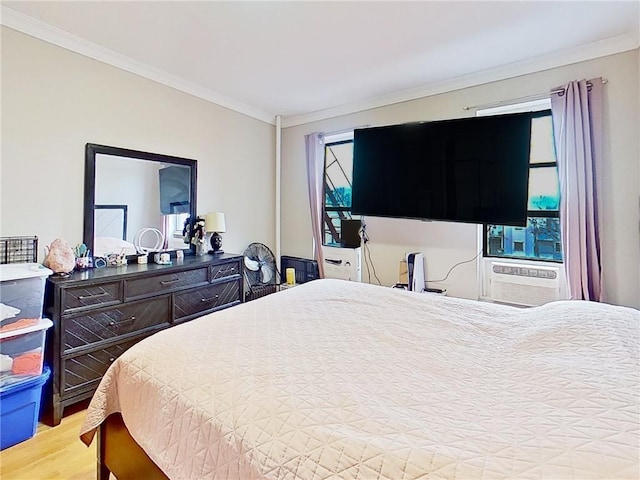
[[[560,90],[557,92],[557,90]],[[560,231],[569,293],[603,300],[599,198],[602,79],[573,81],[551,95],[560,179]]]

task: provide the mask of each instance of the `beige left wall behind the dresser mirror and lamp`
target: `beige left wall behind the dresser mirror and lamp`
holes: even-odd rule
[[[274,248],[275,128],[2,27],[0,235],[82,241],[84,146],[198,160],[198,211],[223,248]]]

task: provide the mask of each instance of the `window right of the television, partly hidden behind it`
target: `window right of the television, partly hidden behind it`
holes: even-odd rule
[[[500,113],[520,111],[514,107]],[[485,225],[484,256],[562,262],[559,206],[551,110],[543,110],[531,124],[527,226]]]

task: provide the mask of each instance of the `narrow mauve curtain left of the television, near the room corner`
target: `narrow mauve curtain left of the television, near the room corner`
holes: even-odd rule
[[[307,182],[309,184],[309,206],[311,207],[311,229],[313,231],[313,258],[318,262],[318,273],[324,278],[322,255],[322,210],[324,196],[324,135],[305,135],[307,149]]]

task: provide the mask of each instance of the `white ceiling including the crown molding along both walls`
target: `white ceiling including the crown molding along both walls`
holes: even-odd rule
[[[283,126],[638,48],[638,1],[2,1],[2,24]]]

